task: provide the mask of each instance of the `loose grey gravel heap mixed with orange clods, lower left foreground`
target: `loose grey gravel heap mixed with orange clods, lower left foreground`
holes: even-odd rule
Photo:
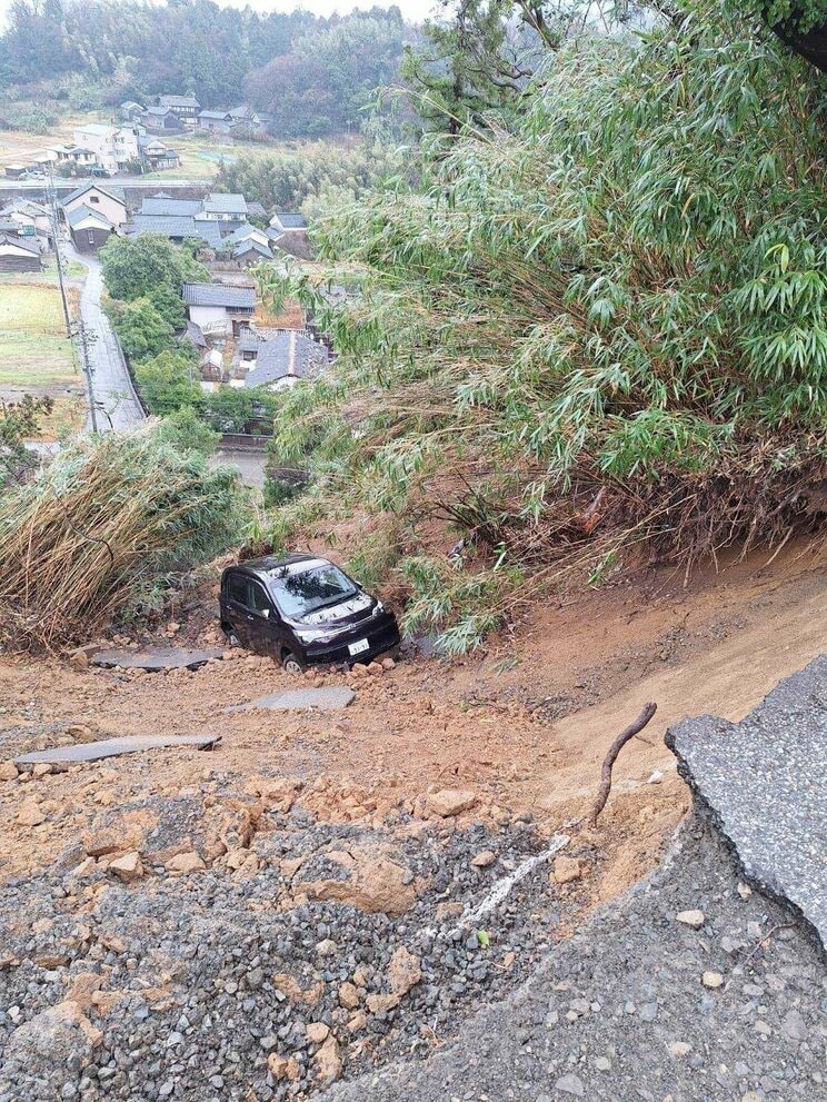
[[[459,832],[402,816],[391,833],[270,813],[249,840],[255,874],[216,866],[170,876],[163,858],[176,840],[206,844],[201,802],[153,797],[136,807],[161,820],[141,846],[142,877],[90,870],[79,843],[42,874],[4,886],[0,1102],[211,1102],[250,1091],[269,1102],[321,1090],[322,1072],[338,1074],[339,1062],[353,1075],[427,1054],[435,1036],[525,980],[586,901],[579,885],[561,897],[541,863],[487,915],[485,932],[464,924],[495,883],[547,847],[526,823]],[[496,860],[476,867],[482,851]],[[307,897],[318,882],[347,888],[337,853],[392,858],[405,870],[400,891],[405,881],[418,888],[414,905],[389,917]],[[393,986],[401,946],[421,973],[410,990]],[[340,999],[343,984],[355,1005],[342,1005],[352,1002]],[[332,1040],[318,1029],[311,1040],[313,1023]],[[293,1078],[275,1076],[288,1066],[280,1058]]]

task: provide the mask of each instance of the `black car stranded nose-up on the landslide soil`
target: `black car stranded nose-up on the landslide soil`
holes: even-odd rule
[[[326,558],[289,555],[229,566],[221,631],[231,644],[299,673],[319,663],[370,662],[399,646],[396,616]]]

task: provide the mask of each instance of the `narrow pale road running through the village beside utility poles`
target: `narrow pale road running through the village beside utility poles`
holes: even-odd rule
[[[61,241],[63,255],[84,265],[89,270],[80,296],[80,315],[89,342],[92,366],[92,393],[101,433],[122,433],[145,418],[141,404],[129,377],[123,354],[114,338],[109,318],[100,307],[103,276],[96,257],[78,252],[70,241]],[[91,428],[91,415],[87,430]]]

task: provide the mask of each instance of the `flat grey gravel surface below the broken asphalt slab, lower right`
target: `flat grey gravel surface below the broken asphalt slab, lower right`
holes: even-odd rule
[[[824,1102],[820,946],[806,922],[739,886],[696,812],[667,861],[528,983],[440,1036],[450,1043],[427,1062],[340,1083],[326,1102]],[[697,932],[676,921],[690,909],[706,916]],[[716,991],[700,982],[710,969],[725,977]]]

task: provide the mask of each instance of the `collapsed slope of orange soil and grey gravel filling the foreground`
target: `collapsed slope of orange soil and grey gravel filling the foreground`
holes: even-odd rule
[[[815,1078],[825,1038],[814,1015],[827,995],[817,952],[788,927],[751,953],[781,920],[759,893],[733,894],[737,873],[704,823],[682,828],[672,872],[656,874],[668,902],[638,887],[631,903],[605,906],[651,873],[689,807],[667,726],[701,713],[738,721],[824,649],[819,556],[766,558],[721,564],[686,589],[682,576],[657,573],[535,608],[462,662],[409,657],[308,678],[353,688],[338,712],[228,711],[302,684],[237,651],[157,674],[93,668],[83,652],[2,659],[0,1100],[249,1102],[340,1081],[335,1096],[381,1102],[827,1096]],[[198,590],[172,609],[157,642],[219,644],[213,596]],[[649,699],[655,719],[621,752],[609,804],[588,827],[606,749]],[[158,733],[221,742],[60,771],[8,764]],[[618,906],[646,912],[644,924],[619,931]],[[671,912],[686,907],[716,915],[715,936],[675,929]],[[723,936],[741,943],[731,961],[716,947]],[[744,971],[725,999],[700,975],[728,962]],[[770,996],[778,1022],[773,1002],[771,1036],[755,1042],[764,1056],[721,1070],[701,1036],[717,1029],[718,1003],[704,1000],[726,1007],[726,1046],[757,1029]],[[504,1048],[519,1014],[512,1027],[508,1004],[484,1025],[474,1016],[509,997],[531,1007],[525,1075]],[[669,1023],[675,1000],[699,1033]],[[651,1003],[655,1017],[636,1016]],[[789,1029],[804,1038],[785,1033],[793,1011],[804,1026],[794,1014]],[[455,1036],[468,1043],[444,1060]],[[471,1058],[485,1075],[468,1093]],[[635,1085],[641,1060],[658,1070],[654,1085]],[[416,1088],[412,1068],[426,1069]]]

